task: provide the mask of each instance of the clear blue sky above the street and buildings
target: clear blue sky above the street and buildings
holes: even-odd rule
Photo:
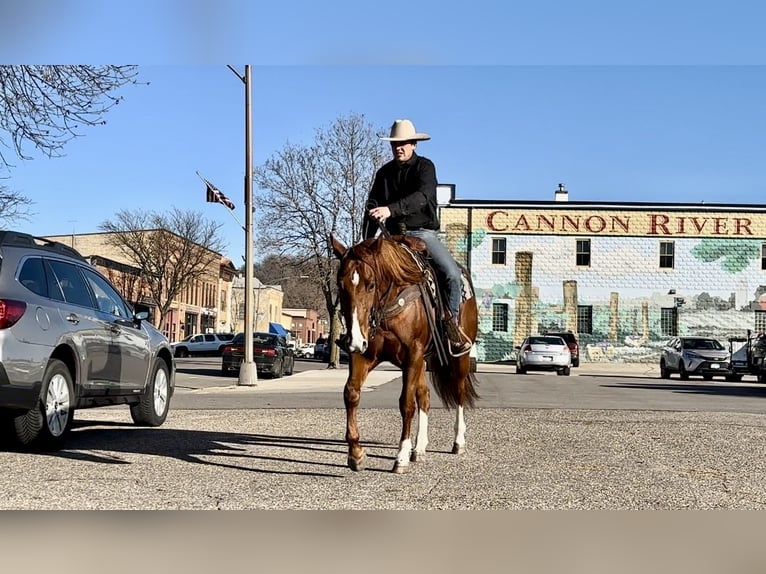
[[[244,221],[244,87],[226,61],[253,65],[255,165],[361,113],[381,130],[408,117],[431,134],[418,151],[458,198],[549,200],[559,182],[571,200],[764,197],[756,2],[413,1],[406,18],[346,1],[138,2],[116,15],[32,4],[47,5],[49,21],[0,15],[17,31],[30,23],[18,63],[98,55],[138,62],[149,85],[122,89],[107,124],[85,129],[66,157],[16,162],[5,183],[35,202],[24,231],[94,232],[119,209],[177,206],[219,221],[239,264],[244,232],[205,203],[195,175]],[[73,35],[62,22],[87,30],[79,44],[57,43]]]

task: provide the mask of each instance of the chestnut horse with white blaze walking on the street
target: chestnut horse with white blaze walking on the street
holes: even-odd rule
[[[429,325],[441,321],[435,316],[430,300],[425,300],[427,291],[422,286],[426,274],[411,248],[423,251],[425,244],[414,237],[379,236],[347,248],[334,237],[330,240],[335,256],[340,259],[338,294],[349,350],[349,375],[343,392],[349,468],[364,468],[366,455],[359,444],[357,410],[367,374],[383,361],[402,369],[399,397],[402,434],[393,471],[404,472],[410,461],[424,456],[428,446],[427,366],[436,393],[445,406],[456,410],[452,452],[460,453],[465,447],[463,409],[472,407],[478,398],[476,381],[468,354],[453,357],[447,353],[445,364],[434,356],[438,341],[434,340]],[[465,269],[463,275],[459,324],[473,342],[478,329],[478,309]],[[416,407],[418,434],[413,446],[411,427]]]

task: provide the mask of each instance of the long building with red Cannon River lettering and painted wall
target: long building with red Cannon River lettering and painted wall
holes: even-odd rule
[[[447,189],[446,197],[444,194]],[[766,331],[766,209],[757,205],[459,200],[445,241],[471,272],[478,360],[569,329],[582,361],[659,362],[675,335],[724,345]]]

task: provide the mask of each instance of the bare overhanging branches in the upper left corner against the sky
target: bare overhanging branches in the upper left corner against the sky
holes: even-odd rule
[[[104,115],[122,98],[112,94],[138,83],[136,66],[0,66],[0,166],[12,167],[2,148],[30,159],[27,147],[48,157],[83,126],[105,124]]]

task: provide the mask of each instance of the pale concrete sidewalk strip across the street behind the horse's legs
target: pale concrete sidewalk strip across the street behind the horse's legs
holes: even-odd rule
[[[481,373],[507,373],[515,374],[514,363],[479,363],[477,374]],[[601,376],[641,376],[659,377],[660,371],[657,365],[640,363],[580,363],[580,366],[572,369],[571,376],[578,375],[601,375]],[[383,363],[367,376],[363,392],[370,391],[384,385],[401,376],[401,371],[390,363]],[[301,373],[295,373],[280,379],[258,379],[254,386],[237,385],[236,378],[219,377],[198,381],[198,388],[192,389],[194,393],[212,393],[222,390],[233,392],[257,392],[257,393],[281,393],[285,391],[312,392],[312,391],[342,391],[348,378],[348,365],[342,363],[335,369],[319,368]]]

